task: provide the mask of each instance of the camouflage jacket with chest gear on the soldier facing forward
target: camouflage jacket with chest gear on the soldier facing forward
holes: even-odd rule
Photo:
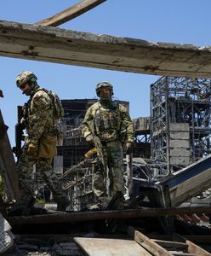
[[[101,141],[119,140],[124,143],[134,142],[134,125],[129,117],[128,110],[118,102],[111,102],[104,106],[100,102],[88,108],[82,124],[83,137],[94,134]]]

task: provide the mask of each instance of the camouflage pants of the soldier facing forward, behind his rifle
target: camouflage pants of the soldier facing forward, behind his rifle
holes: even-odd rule
[[[110,188],[109,194],[114,195],[117,191],[123,192],[123,146],[119,141],[106,143],[107,165],[109,168]],[[93,178],[94,195],[105,195],[106,175],[98,165],[94,166]]]

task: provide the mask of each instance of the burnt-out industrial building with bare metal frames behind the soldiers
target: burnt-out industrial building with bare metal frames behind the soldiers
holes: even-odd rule
[[[133,120],[134,177],[171,177],[210,154],[210,86],[210,79],[177,77],[163,77],[151,84],[151,117]],[[70,208],[80,210],[92,197],[92,161],[84,160],[91,147],[80,126],[96,99],[61,102],[65,109],[60,121],[63,137],[54,157],[54,171],[74,199]],[[129,109],[129,102],[122,103]]]

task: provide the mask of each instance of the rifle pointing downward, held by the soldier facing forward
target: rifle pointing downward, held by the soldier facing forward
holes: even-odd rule
[[[100,137],[94,135],[94,147],[96,148],[98,161],[101,163],[103,168],[104,177],[106,177],[106,194],[109,195],[110,179],[109,179],[109,169],[107,164],[107,152],[106,148],[102,145]]]

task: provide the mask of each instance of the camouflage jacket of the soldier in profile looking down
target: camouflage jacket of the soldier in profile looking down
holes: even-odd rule
[[[28,142],[38,143],[42,136],[54,136],[54,117],[51,99],[41,88],[35,90],[23,107]]]

